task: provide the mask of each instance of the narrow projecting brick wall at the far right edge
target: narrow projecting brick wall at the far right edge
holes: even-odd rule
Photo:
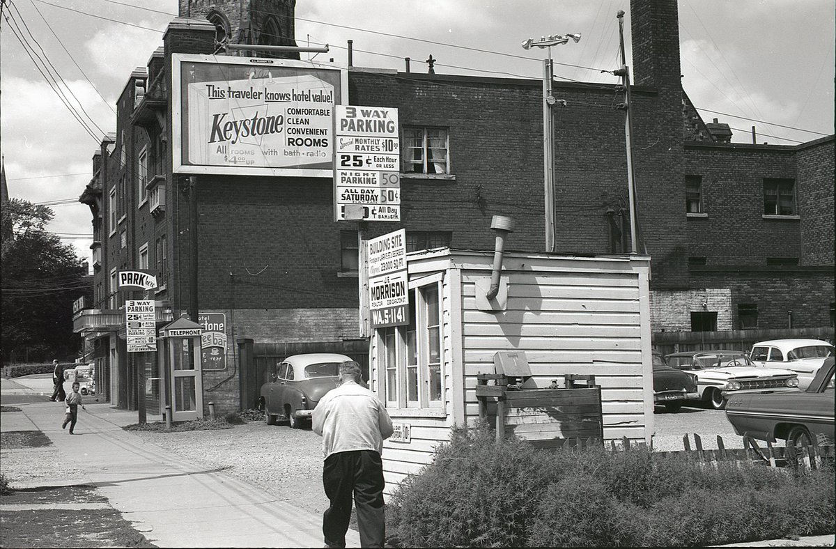
[[[803,265],[833,265],[833,157],[833,137],[798,151]]]

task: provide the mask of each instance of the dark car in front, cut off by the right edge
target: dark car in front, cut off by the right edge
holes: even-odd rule
[[[833,443],[833,357],[825,359],[803,391],[781,394],[736,394],[726,418],[737,435],[808,444],[816,437]]]

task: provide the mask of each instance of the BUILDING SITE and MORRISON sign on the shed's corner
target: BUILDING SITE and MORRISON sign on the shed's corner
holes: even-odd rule
[[[406,276],[406,231],[400,229],[368,244],[369,313],[372,328],[410,323]]]

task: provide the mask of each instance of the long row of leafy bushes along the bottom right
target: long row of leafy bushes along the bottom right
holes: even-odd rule
[[[661,459],[650,450],[534,450],[455,429],[390,498],[402,546],[705,546],[833,532],[832,467]]]

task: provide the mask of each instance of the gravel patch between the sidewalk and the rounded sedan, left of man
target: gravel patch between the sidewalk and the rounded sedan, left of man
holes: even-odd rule
[[[252,422],[232,429],[158,433],[135,431],[186,460],[225,472],[308,511],[328,508],[322,487],[322,439],[310,429]]]

